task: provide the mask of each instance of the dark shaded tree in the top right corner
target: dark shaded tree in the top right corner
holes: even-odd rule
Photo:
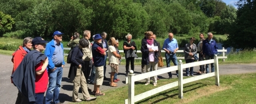
[[[256,46],[256,1],[239,0],[237,18],[224,42],[224,47],[253,49]]]

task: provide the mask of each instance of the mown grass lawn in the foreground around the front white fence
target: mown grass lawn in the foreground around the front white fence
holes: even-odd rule
[[[161,79],[157,86],[178,81],[174,79]],[[220,76],[220,86],[215,85],[215,77],[183,85],[183,99],[178,98],[178,87],[152,95],[136,103],[255,103],[256,102],[256,75],[237,74]],[[144,85],[135,82],[135,95],[154,89],[157,86]],[[105,92],[106,95],[97,100],[80,103],[124,103],[128,98],[128,86]]]

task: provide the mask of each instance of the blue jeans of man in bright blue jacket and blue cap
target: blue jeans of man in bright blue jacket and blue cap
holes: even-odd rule
[[[57,67],[54,71],[48,70],[49,86],[45,95],[45,103],[59,103],[60,85],[62,79],[63,68]]]

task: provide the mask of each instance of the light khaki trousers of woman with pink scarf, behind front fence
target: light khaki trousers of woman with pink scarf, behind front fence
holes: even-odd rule
[[[146,73],[150,71],[150,67],[152,66],[152,70],[157,70],[157,62],[149,62],[149,65],[146,65]],[[157,76],[153,76],[153,84],[157,83]],[[146,79],[146,82],[150,82],[150,78]]]

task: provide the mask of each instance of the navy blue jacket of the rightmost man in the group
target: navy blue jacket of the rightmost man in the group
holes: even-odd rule
[[[203,41],[203,54],[205,55],[213,55],[216,54],[218,51],[218,46],[216,44],[216,42],[214,41],[214,39],[212,39],[211,43],[209,43],[208,39],[205,39]]]

